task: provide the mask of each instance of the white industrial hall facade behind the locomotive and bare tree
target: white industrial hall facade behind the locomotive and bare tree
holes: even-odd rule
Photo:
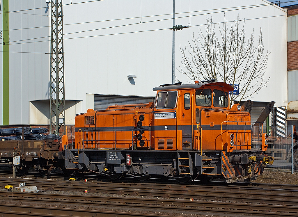
[[[88,108],[153,101],[152,89],[171,83],[172,0],[70,2],[63,1],[67,125]],[[50,3],[0,3],[1,10],[9,11],[0,16],[0,125],[47,125]],[[287,9],[265,0],[176,0],[175,4],[175,23],[190,26],[175,32],[175,68],[182,67],[180,46],[189,46],[193,36],[199,37],[207,17],[219,24],[239,15],[245,20],[247,37],[254,31],[257,40],[262,29],[269,53],[264,75],[270,77],[269,83],[250,99],[264,105],[288,104]],[[176,77],[190,82],[177,70]]]

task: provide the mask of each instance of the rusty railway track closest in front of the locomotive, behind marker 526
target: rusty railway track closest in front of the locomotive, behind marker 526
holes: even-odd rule
[[[293,206],[298,201],[298,191],[239,186],[206,186],[206,185],[162,185],[140,183],[111,182],[70,182],[44,179],[9,179],[0,181],[0,185],[36,185],[48,191],[79,191],[92,193],[117,194],[130,196],[154,196],[171,199],[211,200],[224,202],[259,203]]]

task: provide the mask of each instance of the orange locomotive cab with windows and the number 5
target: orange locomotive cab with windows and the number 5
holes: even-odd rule
[[[233,89],[223,82],[154,88],[157,91],[154,108],[155,149],[223,150],[223,146],[227,147],[226,137],[222,141],[221,125],[227,121],[227,114],[232,113],[229,112],[228,93]],[[235,115],[242,115],[239,120],[250,121],[249,113]]]

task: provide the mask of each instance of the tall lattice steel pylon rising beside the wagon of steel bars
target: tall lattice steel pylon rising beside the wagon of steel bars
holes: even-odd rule
[[[66,131],[62,0],[51,0],[50,64],[50,133],[62,136]]]

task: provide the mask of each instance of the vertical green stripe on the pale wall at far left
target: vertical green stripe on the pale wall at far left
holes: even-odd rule
[[[2,0],[3,11],[9,11],[8,9],[8,1]],[[8,34],[8,15],[9,13],[3,12],[3,42],[5,45],[3,48],[3,125],[8,125],[9,120],[9,34]]]

